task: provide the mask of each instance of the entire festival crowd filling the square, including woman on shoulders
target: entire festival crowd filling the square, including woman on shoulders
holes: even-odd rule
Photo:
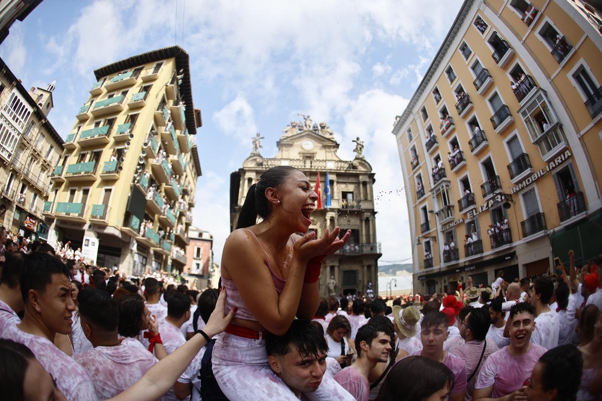
[[[602,259],[454,294],[320,298],[326,255],[303,236],[317,195],[298,170],[253,184],[218,289],[127,277],[8,248],[0,281],[6,400],[597,400]],[[263,219],[256,223],[256,216]],[[371,294],[370,294],[371,295]]]

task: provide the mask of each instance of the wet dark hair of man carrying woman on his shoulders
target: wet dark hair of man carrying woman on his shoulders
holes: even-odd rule
[[[299,349],[303,358],[320,358],[328,352],[326,338],[309,320],[295,319],[283,335],[268,332],[265,336],[267,355],[284,357],[291,352],[291,344]]]

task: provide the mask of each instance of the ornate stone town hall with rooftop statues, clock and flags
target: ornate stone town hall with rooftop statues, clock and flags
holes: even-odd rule
[[[356,142],[356,157],[345,161],[337,155],[339,144],[326,123],[292,121],[282,130],[276,145],[278,154],[264,158],[259,153],[259,134],[253,140],[254,150],[243,167],[230,177],[230,227],[237,225],[249,187],[259,180],[268,168],[289,165],[308,177],[314,188],[320,177],[320,210],[312,213],[309,230],[321,236],[327,227],[332,230],[351,230],[347,244],[337,253],[326,257],[320,275],[320,295],[365,294],[370,284],[377,289],[378,259],[382,255],[376,240],[376,211],[374,210],[374,173],[363,156],[364,145]]]

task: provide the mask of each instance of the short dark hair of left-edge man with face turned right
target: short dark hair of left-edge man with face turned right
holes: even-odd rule
[[[67,266],[54,256],[41,253],[26,256],[19,277],[23,302],[29,302],[29,290],[44,292],[46,286],[52,283],[53,274],[64,274],[67,280],[71,281]]]

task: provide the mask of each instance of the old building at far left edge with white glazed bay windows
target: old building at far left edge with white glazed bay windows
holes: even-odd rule
[[[26,90],[0,59],[0,224],[29,239],[48,238],[42,206],[63,152],[48,121],[54,86]]]

